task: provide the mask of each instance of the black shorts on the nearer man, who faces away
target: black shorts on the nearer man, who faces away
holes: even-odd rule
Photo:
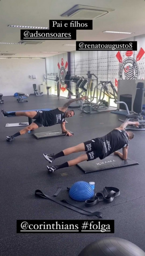
[[[88,156],[87,161],[94,160],[102,155],[103,146],[98,140],[98,138],[85,141],[84,147],[86,154]]]

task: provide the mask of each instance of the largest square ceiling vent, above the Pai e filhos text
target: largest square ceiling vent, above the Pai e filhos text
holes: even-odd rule
[[[75,5],[67,12],[61,14],[62,17],[72,17],[74,19],[96,19],[100,16],[112,12],[114,9],[99,8],[86,5]]]

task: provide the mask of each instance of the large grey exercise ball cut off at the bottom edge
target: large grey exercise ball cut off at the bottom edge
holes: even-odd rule
[[[88,244],[78,256],[145,256],[145,252],[127,240],[106,237]]]

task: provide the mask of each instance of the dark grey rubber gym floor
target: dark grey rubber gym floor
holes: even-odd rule
[[[1,108],[6,111],[27,109],[54,109],[67,99],[55,96],[29,96],[28,103],[18,103],[14,97],[3,97]],[[74,109],[75,115],[67,119],[72,137],[61,136],[35,139],[31,133],[16,137],[8,143],[7,135],[20,127],[5,127],[6,123],[27,122],[26,117],[0,116],[0,256],[77,256],[89,243],[106,236],[115,236],[133,242],[145,250],[145,131],[135,131],[129,142],[128,157],[139,165],[84,174],[77,166],[47,173],[43,153],[58,153],[83,141],[105,135],[119,127],[119,116],[112,113],[85,114]],[[41,127],[35,132],[59,130],[60,125]],[[73,159],[74,153],[55,160],[61,164]],[[91,211],[102,212],[103,220],[115,221],[114,234],[17,234],[16,220],[96,220],[67,209],[55,202],[35,197],[35,190],[53,196],[63,186],[58,199],[69,199],[67,186],[76,181],[95,181],[95,193],[104,186],[120,189],[120,196],[110,204],[100,202]],[[77,202],[74,202],[77,205]],[[83,203],[81,203],[83,204]],[[78,205],[81,205],[78,203]]]

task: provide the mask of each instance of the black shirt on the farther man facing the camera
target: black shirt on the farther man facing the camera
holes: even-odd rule
[[[49,111],[43,111],[42,118],[43,126],[56,125],[58,123],[65,122],[65,112],[60,111],[58,108]]]

